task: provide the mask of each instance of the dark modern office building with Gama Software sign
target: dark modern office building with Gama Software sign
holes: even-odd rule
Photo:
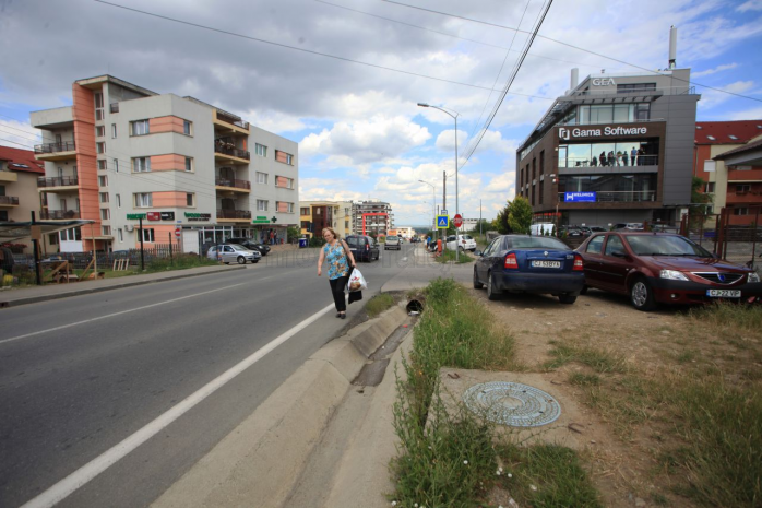
[[[538,222],[679,222],[690,204],[699,99],[690,69],[581,83],[573,69],[570,90],[516,151],[516,194]]]

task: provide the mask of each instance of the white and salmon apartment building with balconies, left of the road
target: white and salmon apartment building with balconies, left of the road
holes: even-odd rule
[[[61,232],[62,251],[229,237],[286,239],[298,224],[298,144],[193,97],[111,75],[78,80],[72,106],[34,111],[40,218],[95,221]],[[142,221],[142,231],[139,227]]]

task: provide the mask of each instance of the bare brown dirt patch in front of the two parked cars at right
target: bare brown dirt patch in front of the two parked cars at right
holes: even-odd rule
[[[536,295],[489,302],[484,291],[471,292],[513,335],[525,371],[580,407],[580,457],[606,506],[695,506],[680,495],[684,471],[670,470],[680,438],[654,386],[668,390],[669,376],[703,373],[759,382],[759,333],[718,334],[686,309],[641,312],[627,297],[595,290],[573,305]]]

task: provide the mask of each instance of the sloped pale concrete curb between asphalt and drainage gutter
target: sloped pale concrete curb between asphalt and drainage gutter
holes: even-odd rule
[[[395,306],[321,347],[152,506],[281,506],[368,356],[406,317]]]

